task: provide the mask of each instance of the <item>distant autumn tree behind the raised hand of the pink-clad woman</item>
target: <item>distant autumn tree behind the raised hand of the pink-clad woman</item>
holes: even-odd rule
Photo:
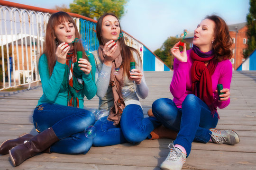
[[[154,51],[155,55],[162,59],[169,68],[173,68],[174,56],[171,53],[171,48],[177,42],[181,42],[182,38],[168,37],[160,49]],[[185,41],[183,41],[185,42]],[[189,50],[189,43],[186,43],[186,49]],[[183,47],[180,46],[180,51],[183,51]]]

